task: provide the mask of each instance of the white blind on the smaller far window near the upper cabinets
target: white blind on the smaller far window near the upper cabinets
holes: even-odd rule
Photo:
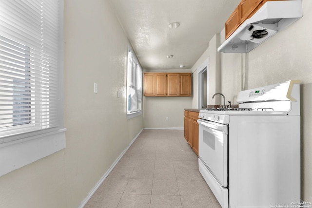
[[[127,82],[127,113],[140,112],[142,111],[142,69],[131,50],[128,53]]]

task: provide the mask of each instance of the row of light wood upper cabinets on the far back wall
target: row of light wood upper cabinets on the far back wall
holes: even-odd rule
[[[144,73],[144,96],[191,96],[191,73]]]

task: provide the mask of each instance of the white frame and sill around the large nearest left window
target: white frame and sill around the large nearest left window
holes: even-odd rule
[[[40,129],[32,132],[14,132],[0,140],[0,176],[33,163],[66,147],[64,128],[64,38],[63,38],[64,1],[59,0],[59,33],[58,33],[58,103],[57,122],[54,128]]]

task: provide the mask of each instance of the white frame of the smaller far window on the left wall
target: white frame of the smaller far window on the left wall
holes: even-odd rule
[[[132,55],[132,57],[131,57]],[[135,63],[135,71],[136,74],[133,77],[133,63]],[[131,102],[129,102],[129,91],[131,87],[131,80],[132,78],[135,78],[135,83],[136,83],[136,94],[137,94],[137,111],[135,112],[131,112],[131,110],[129,111],[129,104]],[[128,53],[127,53],[127,97],[126,97],[126,113],[127,113],[127,119],[131,119],[134,118],[138,115],[142,114],[142,101],[143,101],[143,70],[142,67],[139,63],[139,61],[137,60],[137,56],[134,53],[133,49],[131,48],[131,46],[128,46]]]

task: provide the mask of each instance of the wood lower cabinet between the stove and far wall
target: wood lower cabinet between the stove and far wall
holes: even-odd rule
[[[198,112],[184,111],[184,138],[198,156]]]

